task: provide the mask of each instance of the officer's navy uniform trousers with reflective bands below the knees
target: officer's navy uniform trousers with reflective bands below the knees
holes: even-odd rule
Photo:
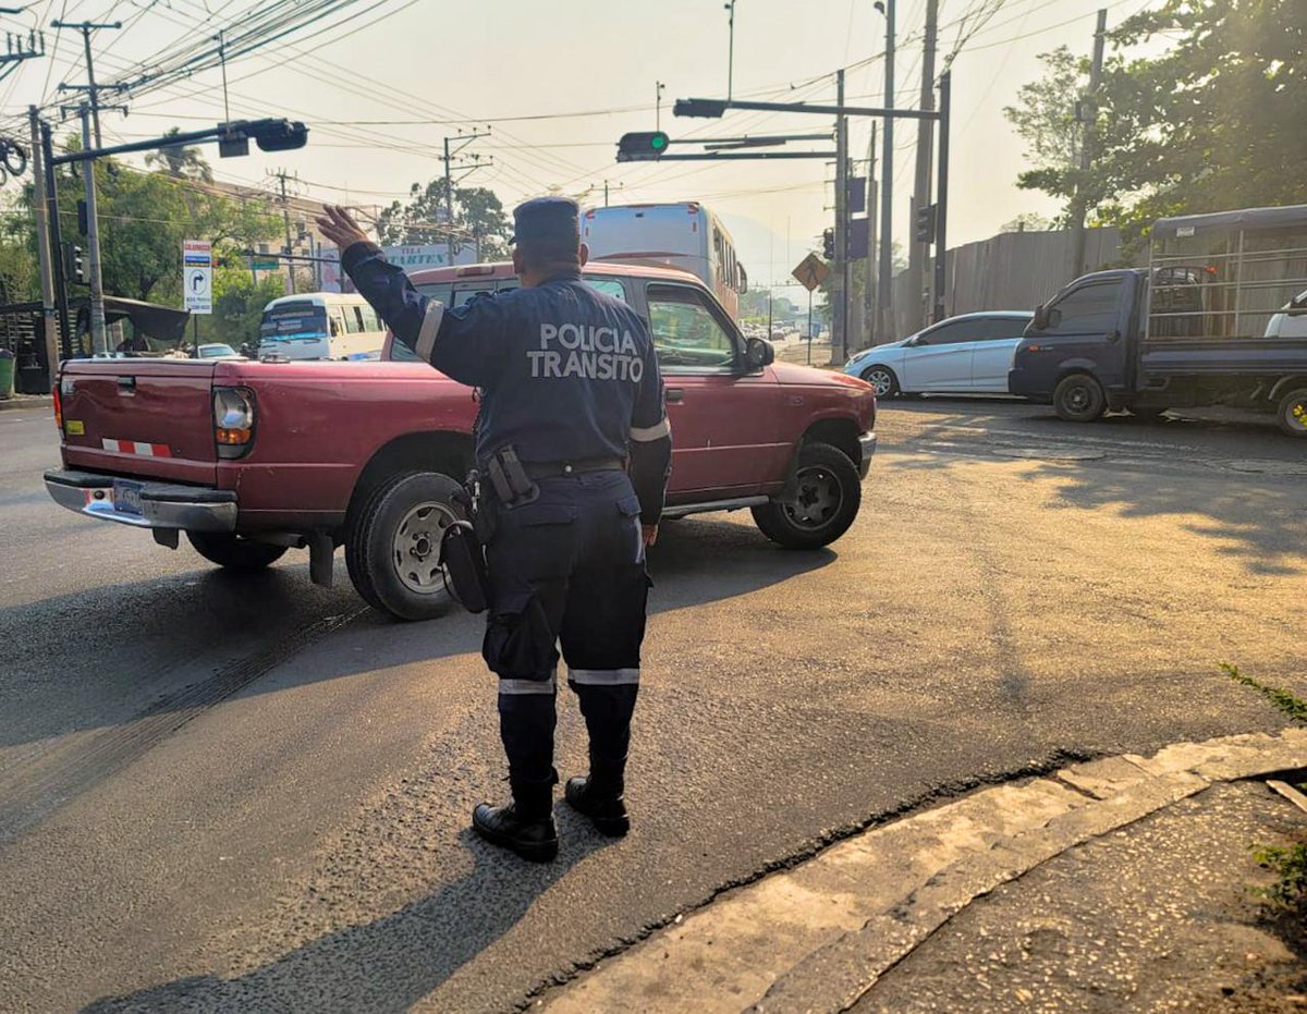
[[[640,504],[625,472],[538,480],[498,507],[486,546],[491,602],[482,653],[499,676],[499,733],[519,810],[548,810],[558,646],[580,699],[592,767],[621,762],[640,679],[648,576]]]

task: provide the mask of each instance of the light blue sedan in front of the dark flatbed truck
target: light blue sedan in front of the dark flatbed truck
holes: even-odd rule
[[[963,314],[916,335],[856,353],[844,372],[876,397],[957,392],[1006,395],[1017,344],[1034,315],[1021,310]]]

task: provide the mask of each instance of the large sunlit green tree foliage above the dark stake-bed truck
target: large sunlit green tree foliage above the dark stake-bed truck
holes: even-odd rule
[[[1159,55],[1131,55],[1157,38],[1170,43]],[[1057,51],[1009,111],[1034,162],[1019,186],[1069,206],[1078,191],[1128,239],[1165,214],[1307,203],[1307,174],[1294,170],[1307,163],[1303,0],[1166,0],[1110,42],[1091,169],[1077,169],[1067,119],[1085,63]]]

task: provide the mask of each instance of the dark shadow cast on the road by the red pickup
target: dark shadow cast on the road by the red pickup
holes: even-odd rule
[[[783,550],[752,525],[677,521],[650,554],[650,610],[755,592],[835,559],[829,549]],[[0,676],[0,747],[193,708],[205,685],[242,674],[250,678],[226,695],[246,685],[259,693],[257,677],[335,630],[339,623],[324,623],[332,617],[356,629],[386,627],[383,643],[376,652],[335,653],[305,681],[480,653],[480,617],[451,605],[433,621],[392,623],[342,579],[318,588],[298,563],[246,576],[209,570],[98,589],[111,593],[101,601],[77,593],[0,609],[10,662]]]

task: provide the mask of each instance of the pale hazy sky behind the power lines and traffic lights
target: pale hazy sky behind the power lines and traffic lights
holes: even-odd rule
[[[982,0],[941,0],[941,57],[955,24]],[[1001,0],[989,0],[991,4]],[[898,0],[898,103],[915,107],[920,88],[924,0]],[[264,4],[267,5],[267,4]],[[1060,43],[1087,52],[1097,0],[1006,0],[953,64],[950,246],[980,239],[1021,212],[1053,210],[1014,186],[1022,145],[1002,118],[1017,89],[1039,73],[1038,54]],[[1108,24],[1146,7],[1108,4]],[[93,37],[97,77],[112,81],[132,64],[203,41],[259,7],[247,0],[43,0],[4,18],[10,29],[69,21],[122,20]],[[353,16],[340,29],[335,21]],[[312,31],[322,34],[299,44]],[[47,27],[47,50],[55,33]],[[625,131],[652,129],[655,81],[667,84],[663,128],[673,137],[814,132],[814,115],[729,112],[721,120],[670,115],[678,97],[724,97],[727,12],[723,0],[366,0],[298,37],[229,67],[231,114],[288,115],[310,128],[308,146],[280,157],[218,159],[220,179],[255,183],[278,167],[298,172],[306,196],[388,203],[413,182],[442,171],[442,139],[461,127],[490,137],[469,148],[489,165],[467,179],[494,188],[506,205],[561,187],[583,201],[701,199],[731,226],[754,281],[780,281],[830,225],[834,166],[819,161],[618,165]],[[853,67],[847,95],[878,105],[884,91],[885,21],[872,0],[738,0],[735,94],[774,101],[834,99],[831,72]],[[8,116],[31,102],[59,102],[60,81],[84,82],[81,37],[63,31],[54,57],[25,63],[0,82]],[[67,101],[67,99],[65,99]],[[106,99],[110,101],[110,99]],[[106,142],[196,129],[222,119],[217,71],[129,99],[131,115],[106,112]],[[591,115],[559,115],[559,114]],[[531,119],[538,118],[538,119]],[[395,123],[396,120],[404,123]],[[414,122],[416,120],[416,122]],[[916,127],[897,125],[895,221],[907,227]],[[852,152],[864,158],[870,122],[855,122]],[[816,142],[821,145],[821,142]],[[797,146],[792,142],[792,146]],[[788,239],[787,239],[788,237]]]

